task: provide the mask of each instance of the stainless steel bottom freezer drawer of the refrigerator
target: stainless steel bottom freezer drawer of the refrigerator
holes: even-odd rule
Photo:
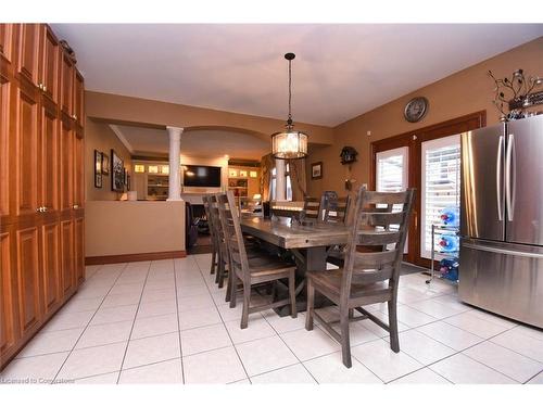
[[[462,239],[462,301],[543,328],[543,247]]]

